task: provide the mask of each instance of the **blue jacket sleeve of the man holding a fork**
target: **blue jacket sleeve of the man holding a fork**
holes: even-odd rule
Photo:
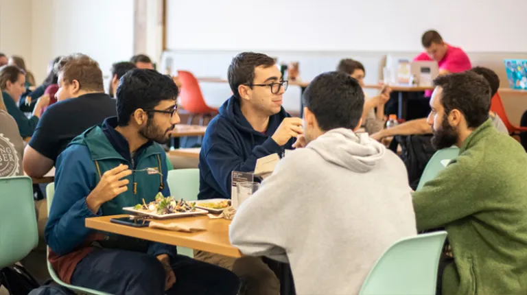
[[[62,152],[56,162],[55,194],[45,228],[49,248],[66,255],[95,231],[86,228],[84,221],[102,215],[88,209],[86,197],[95,187],[95,165],[84,145],[72,145]]]

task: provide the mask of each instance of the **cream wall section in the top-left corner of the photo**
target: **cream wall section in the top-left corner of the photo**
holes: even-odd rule
[[[23,56],[28,67],[32,64],[32,1],[0,0],[0,52]]]

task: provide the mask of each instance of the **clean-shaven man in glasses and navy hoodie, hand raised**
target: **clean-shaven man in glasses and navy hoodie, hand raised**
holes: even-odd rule
[[[291,149],[302,120],[282,108],[288,82],[273,58],[243,52],[229,66],[233,96],[220,107],[203,139],[198,199],[231,198],[231,172],[253,172],[258,158]]]

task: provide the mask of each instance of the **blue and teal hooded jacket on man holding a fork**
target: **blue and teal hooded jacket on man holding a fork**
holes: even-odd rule
[[[47,244],[58,256],[86,246],[86,239],[95,233],[95,230],[84,225],[86,218],[125,213],[122,207],[139,204],[143,198],[145,202],[151,202],[159,191],[164,196],[170,196],[163,148],[156,143],[145,143],[134,153],[132,160],[128,141],[114,129],[115,126],[117,118],[106,119],[102,126],[89,128],[73,139],[69,147],[58,156],[55,194],[45,228]],[[86,205],[86,197],[95,189],[102,174],[119,164],[128,165],[130,169],[154,167],[161,169],[163,176],[134,172],[128,176],[128,191],[104,203],[97,213],[91,212]],[[130,238],[115,235],[109,235],[105,239],[101,244],[111,244],[110,248],[138,250],[154,256],[176,255],[175,246],[139,239],[131,241]],[[89,244],[90,241],[87,242]]]

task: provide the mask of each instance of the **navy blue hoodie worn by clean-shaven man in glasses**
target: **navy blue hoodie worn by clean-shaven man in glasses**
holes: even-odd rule
[[[258,158],[292,149],[296,139],[279,146],[271,136],[284,118],[291,117],[281,108],[269,118],[265,133],[250,126],[239,107],[239,100],[231,96],[220,107],[220,115],[212,119],[203,139],[200,152],[199,200],[231,198],[231,172],[253,172]]]

